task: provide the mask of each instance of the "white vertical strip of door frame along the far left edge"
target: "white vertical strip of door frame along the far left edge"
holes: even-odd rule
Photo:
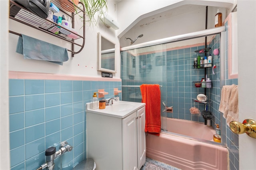
[[[9,1],[0,1],[0,170],[10,169],[8,7]]]

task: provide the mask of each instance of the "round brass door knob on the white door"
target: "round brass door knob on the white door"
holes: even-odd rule
[[[253,119],[245,119],[243,123],[231,121],[229,127],[233,133],[246,133],[250,137],[256,138],[256,122]]]

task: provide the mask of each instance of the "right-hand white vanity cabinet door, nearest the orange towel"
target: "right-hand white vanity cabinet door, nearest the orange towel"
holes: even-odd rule
[[[145,107],[137,111],[137,117],[138,169],[140,169],[146,162]]]

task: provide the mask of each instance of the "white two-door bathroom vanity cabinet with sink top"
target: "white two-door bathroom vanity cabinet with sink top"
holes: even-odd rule
[[[96,170],[138,170],[146,162],[145,104],[129,103],[136,107],[124,115],[86,104],[87,158],[94,159]]]

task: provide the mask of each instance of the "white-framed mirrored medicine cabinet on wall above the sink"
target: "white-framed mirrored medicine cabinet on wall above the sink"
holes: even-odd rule
[[[116,73],[116,44],[98,33],[98,70]]]

